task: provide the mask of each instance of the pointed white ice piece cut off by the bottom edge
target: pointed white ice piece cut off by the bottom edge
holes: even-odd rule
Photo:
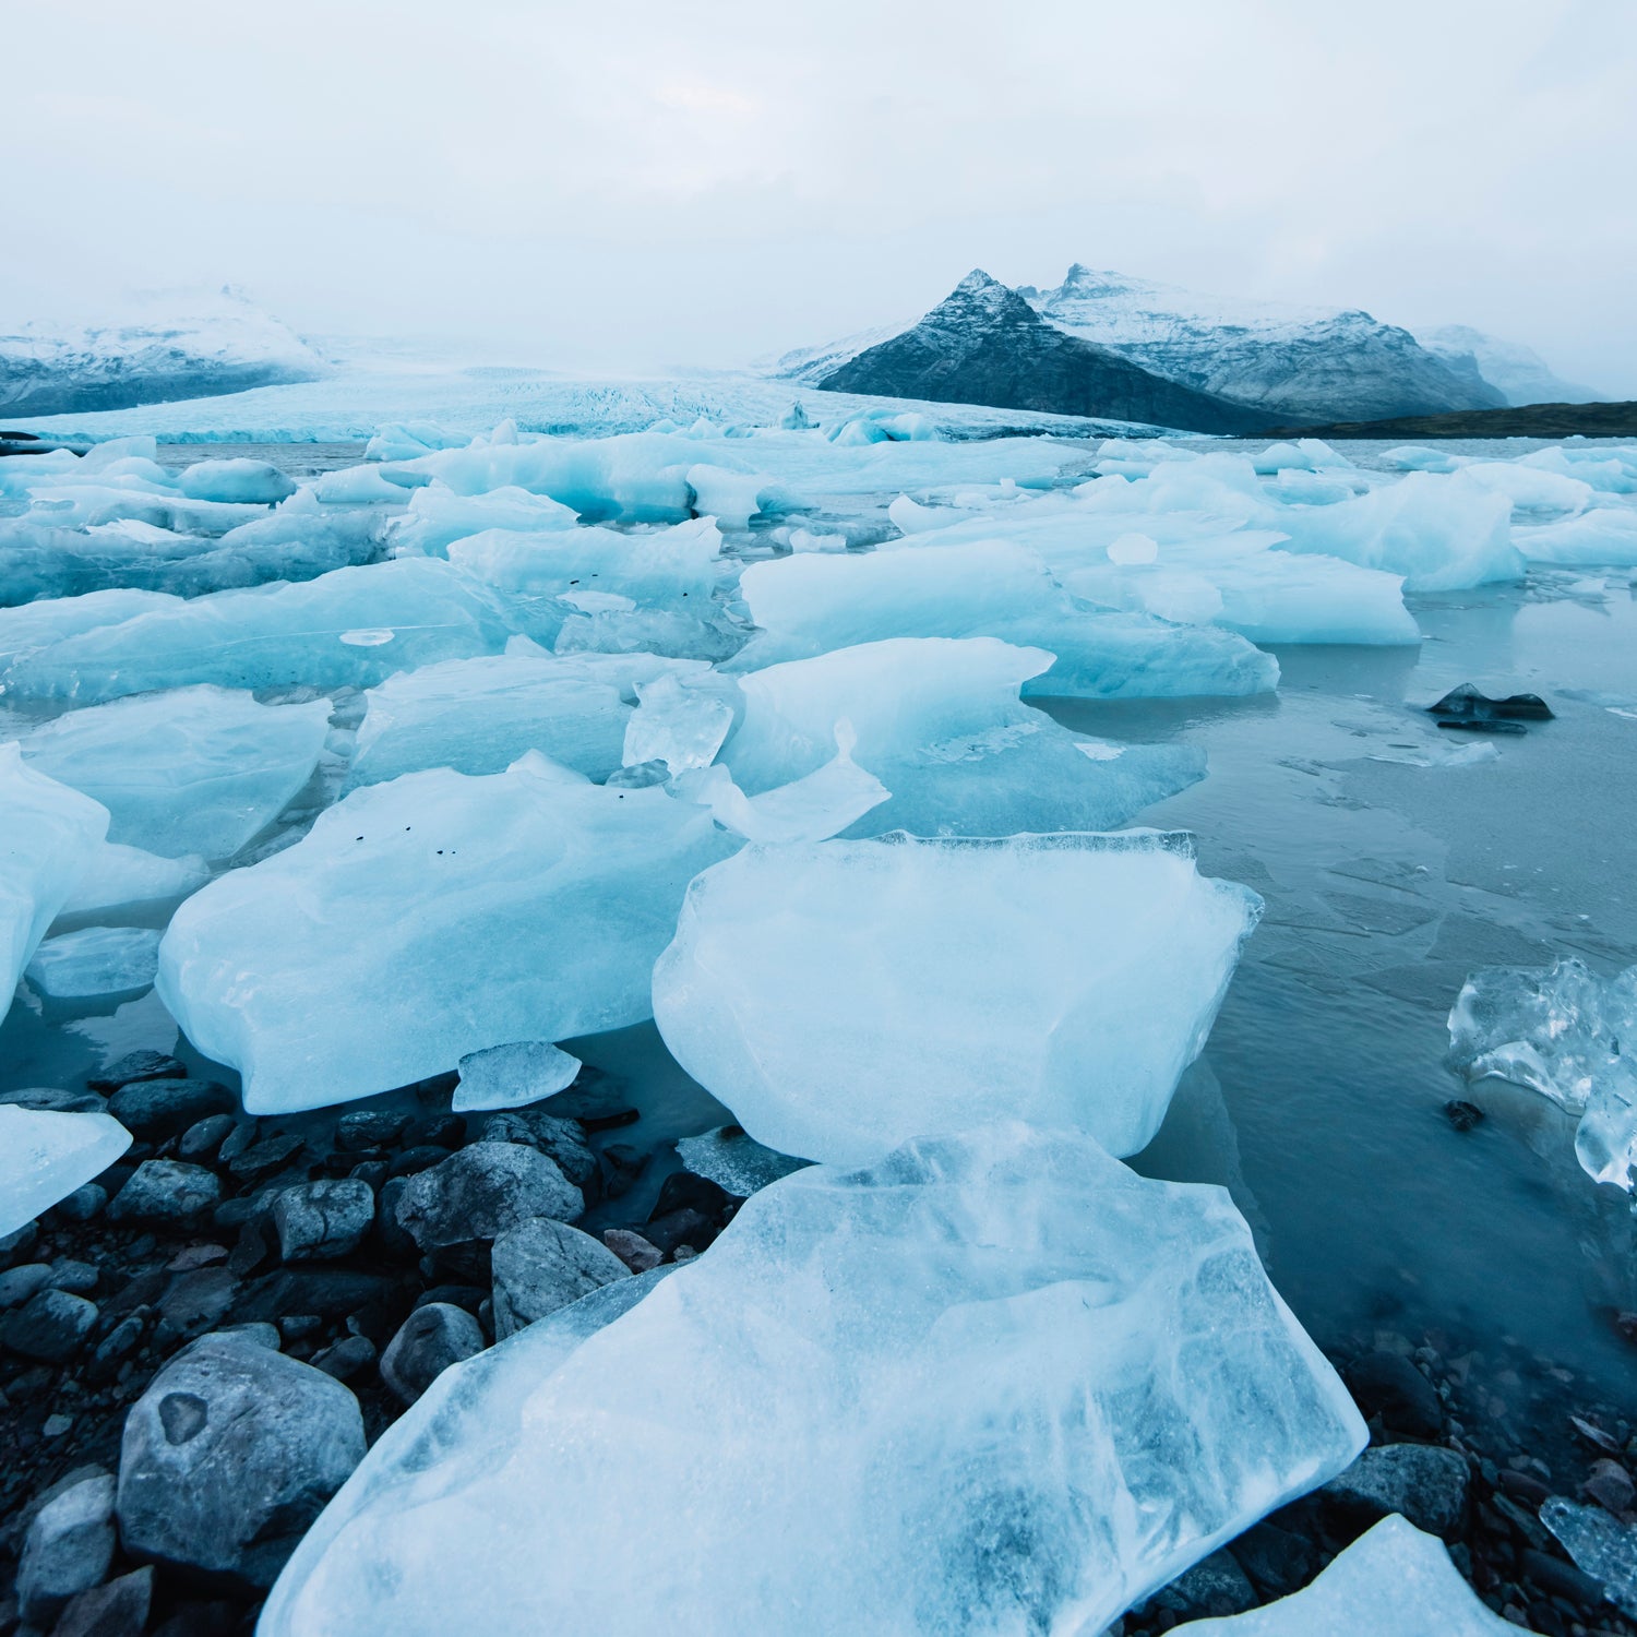
[[[1567,1503],[1547,1501],[1557,1504]],[[1187,1637],[1516,1637],[1517,1627],[1473,1596],[1442,1540],[1395,1513],[1293,1596],[1172,1630]]]

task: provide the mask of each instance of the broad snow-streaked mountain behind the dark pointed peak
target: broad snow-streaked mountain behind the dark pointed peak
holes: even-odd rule
[[[1079,262],[1056,290],[1020,293],[1071,336],[1287,421],[1375,421],[1506,403],[1475,370],[1452,368],[1408,329],[1357,309],[1197,295]]]

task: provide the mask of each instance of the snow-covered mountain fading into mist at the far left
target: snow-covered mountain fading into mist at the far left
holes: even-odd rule
[[[0,334],[0,414],[80,414],[311,381],[327,365],[234,290],[154,298],[126,322]]]

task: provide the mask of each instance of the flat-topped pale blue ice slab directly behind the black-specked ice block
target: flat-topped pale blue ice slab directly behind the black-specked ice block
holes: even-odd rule
[[[368,691],[347,789],[422,768],[503,773],[527,750],[601,782],[625,760],[637,689],[704,671],[648,653],[504,653],[404,671]]]

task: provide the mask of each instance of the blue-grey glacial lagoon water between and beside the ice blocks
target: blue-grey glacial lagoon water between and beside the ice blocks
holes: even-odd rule
[[[1372,465],[1380,450],[1344,452]],[[167,465],[196,453],[162,447]],[[210,453],[308,476],[360,452]],[[859,499],[846,509],[856,517]],[[1568,1116],[1450,1072],[1445,1017],[1480,966],[1575,954],[1609,974],[1637,961],[1637,589],[1630,571],[1537,570],[1521,586],[1414,599],[1413,612],[1419,650],[1277,650],[1272,696],[1044,709],[1107,740],[1203,748],[1208,778],[1139,822],[1195,832],[1206,874],[1267,900],[1208,1049],[1139,1169],[1226,1184],[1321,1346],[1431,1339],[1467,1360],[1478,1401],[1536,1449],[1568,1405],[1632,1398],[1619,1328],[1637,1308],[1632,1215],[1576,1164]],[[1441,732],[1423,707],[1465,681],[1539,692],[1557,719],[1493,742]],[[1416,764],[1480,743],[1495,745],[1493,760]],[[152,994],[92,1015],[15,1005],[0,1028],[0,1090],[80,1084],[126,1049],[175,1041]],[[668,1144],[728,1115],[652,1025],[565,1044],[640,1110],[598,1141],[656,1151],[634,1195],[586,1226],[629,1221],[674,1169]],[[1455,1097],[1483,1108],[1475,1130],[1445,1116]]]

